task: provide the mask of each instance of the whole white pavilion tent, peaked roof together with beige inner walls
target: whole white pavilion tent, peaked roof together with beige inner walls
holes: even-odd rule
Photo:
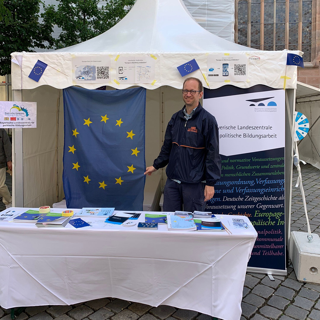
[[[253,51],[221,39],[199,26],[182,0],[137,0],[123,20],[84,43],[53,52],[12,53],[15,60],[12,63],[13,100],[37,102],[37,128],[17,129],[13,132],[14,204],[36,207],[51,205],[62,199],[64,133],[60,89],[76,84],[88,89],[102,85],[124,89],[134,85],[117,84],[114,81],[119,56],[153,55],[156,58],[155,82],[138,84],[153,89],[147,90],[146,102],[145,147],[148,165],[159,153],[170,117],[181,108],[181,93],[177,89],[182,88],[184,78],[180,76],[177,66],[195,58],[201,71],[196,70],[192,76],[203,79],[202,73],[206,76],[209,54],[244,54],[248,58],[256,56],[258,62],[248,62],[246,81],[211,82],[210,88],[226,84],[241,88],[256,84],[284,88],[286,77],[286,88],[295,89],[297,67],[286,66],[287,52]],[[105,57],[111,59],[111,81],[99,84],[75,83],[72,59],[92,55],[100,55],[101,60]],[[38,82],[28,78],[37,60],[48,64]],[[158,202],[156,198],[160,196],[164,182],[165,173],[162,170],[155,172],[152,179],[146,180],[145,202],[150,204],[150,208]]]

